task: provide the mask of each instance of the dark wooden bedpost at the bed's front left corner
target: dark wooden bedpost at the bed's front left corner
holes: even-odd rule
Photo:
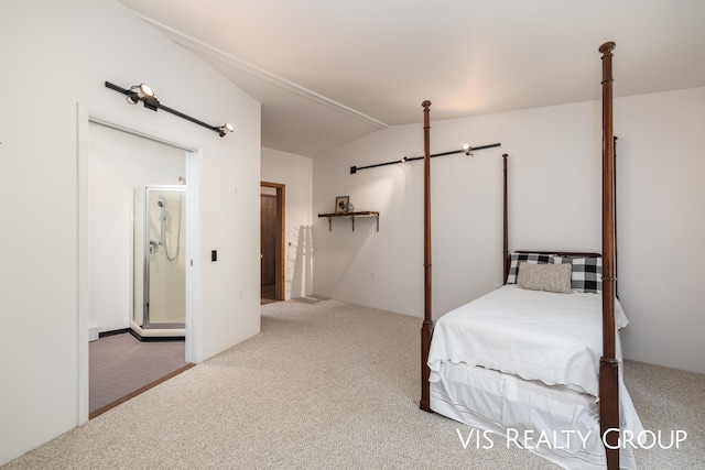
[[[431,385],[429,378],[429,351],[431,350],[431,335],[433,334],[433,314],[431,309],[431,124],[429,121],[429,108],[431,101],[421,103],[423,107],[423,141],[424,141],[424,171],[423,171],[423,266],[424,266],[424,317],[421,327],[421,409],[431,412]]]

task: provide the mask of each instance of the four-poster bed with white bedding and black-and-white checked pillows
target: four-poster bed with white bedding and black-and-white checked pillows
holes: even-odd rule
[[[506,285],[442,316],[431,313],[429,108],[424,108],[424,276],[421,408],[505,436],[571,469],[636,468],[628,429],[643,428],[619,370],[611,57],[603,54],[603,253],[508,252]],[[505,441],[502,441],[505,444]]]

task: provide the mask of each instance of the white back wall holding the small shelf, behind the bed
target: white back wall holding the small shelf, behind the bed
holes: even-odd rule
[[[502,282],[502,153],[509,153],[510,247],[598,249],[599,231],[588,230],[590,222],[599,223],[593,204],[599,187],[590,185],[599,164],[589,157],[599,153],[599,134],[589,132],[598,113],[595,103],[582,103],[433,121],[431,107],[432,154],[459,150],[465,142],[501,143],[473,156],[432,160],[436,317]],[[349,174],[352,165],[421,155],[420,123],[379,131],[314,160],[314,211],[332,211],[337,195],[349,195],[357,210],[380,211],[379,232],[371,221],[357,221],[355,232],[346,220],[334,220],[332,232],[325,219],[315,225],[317,294],[423,315],[423,162]],[[579,176],[562,177],[570,174]],[[556,192],[573,196],[554,197]],[[566,225],[564,216],[575,207],[582,208],[579,223]],[[561,236],[546,239],[545,231]]]

